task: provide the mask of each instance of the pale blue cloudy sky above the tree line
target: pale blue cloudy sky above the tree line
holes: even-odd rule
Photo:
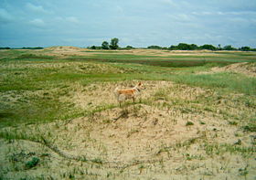
[[[0,0],[0,47],[256,48],[256,0]]]

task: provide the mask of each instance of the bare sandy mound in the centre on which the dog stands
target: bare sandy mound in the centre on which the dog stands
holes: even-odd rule
[[[140,98],[142,101],[152,99],[153,104],[141,104],[137,99],[138,104],[109,108],[108,104],[117,105],[112,94],[114,88],[118,85],[120,88],[130,87],[130,83],[124,81],[116,85],[104,83],[104,86],[91,84],[88,87],[74,87],[77,92],[71,100],[75,106],[93,112],[69,122],[66,126],[68,131],[59,130],[59,138],[55,139],[59,149],[89,159],[101,157],[104,162],[114,162],[116,165],[152,161],[157,158],[156,154],[161,153],[162,146],[169,147],[203,136],[206,127],[198,121],[217,122],[210,114],[185,112],[171,105],[175,103],[173,101],[192,101],[205,94],[206,90],[166,81],[144,83],[147,89]],[[101,109],[97,110],[99,104]],[[102,108],[103,104],[106,110]],[[187,122],[192,122],[193,128],[187,126]],[[213,127],[209,125],[208,128]],[[69,143],[63,137],[69,137]]]

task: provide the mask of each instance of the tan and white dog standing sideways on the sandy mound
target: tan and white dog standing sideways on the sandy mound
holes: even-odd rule
[[[119,88],[116,88],[113,92],[117,101],[119,102],[119,105],[121,106],[121,102],[127,99],[133,99],[133,103],[134,103],[135,97],[140,93],[141,90],[144,90],[144,89],[145,88],[143,83],[139,82],[132,89],[119,90]]]

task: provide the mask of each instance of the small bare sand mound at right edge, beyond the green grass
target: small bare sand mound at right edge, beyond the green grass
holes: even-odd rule
[[[222,68],[215,67],[212,69],[212,71],[214,72],[232,71],[232,72],[242,73],[250,77],[256,77],[256,64],[250,63],[250,62],[241,62],[241,63],[231,64]]]

